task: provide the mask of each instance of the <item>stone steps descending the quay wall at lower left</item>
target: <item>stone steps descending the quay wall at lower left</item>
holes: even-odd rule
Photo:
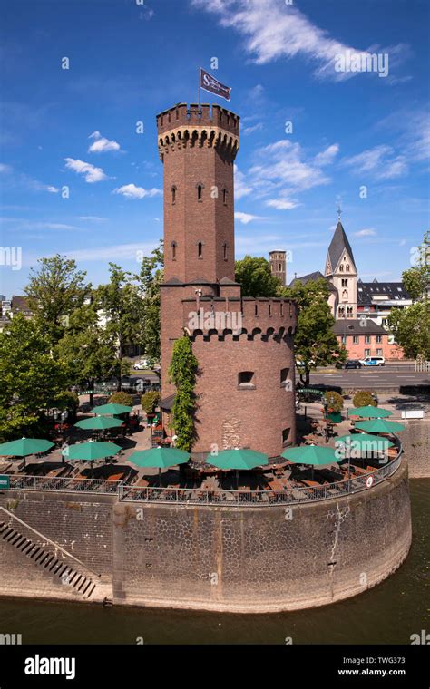
[[[96,584],[90,577],[84,576],[77,569],[58,559],[48,548],[27,539],[18,529],[0,521],[0,539],[20,550],[33,561],[35,567],[43,568],[48,576],[58,578],[73,594],[88,599],[92,597]]]

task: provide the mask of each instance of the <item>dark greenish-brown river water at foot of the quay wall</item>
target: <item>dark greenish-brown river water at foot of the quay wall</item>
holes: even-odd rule
[[[23,644],[410,644],[430,630],[430,479],[410,481],[414,539],[384,583],[331,606],[272,615],[0,600],[0,631]],[[142,643],[142,641],[140,642]]]

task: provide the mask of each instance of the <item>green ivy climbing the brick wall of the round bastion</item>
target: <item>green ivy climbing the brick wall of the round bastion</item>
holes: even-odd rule
[[[192,353],[190,338],[180,337],[173,345],[169,378],[176,387],[175,401],[171,410],[173,427],[177,435],[176,446],[191,451],[195,441],[194,412],[196,407],[194,388],[199,362]]]

